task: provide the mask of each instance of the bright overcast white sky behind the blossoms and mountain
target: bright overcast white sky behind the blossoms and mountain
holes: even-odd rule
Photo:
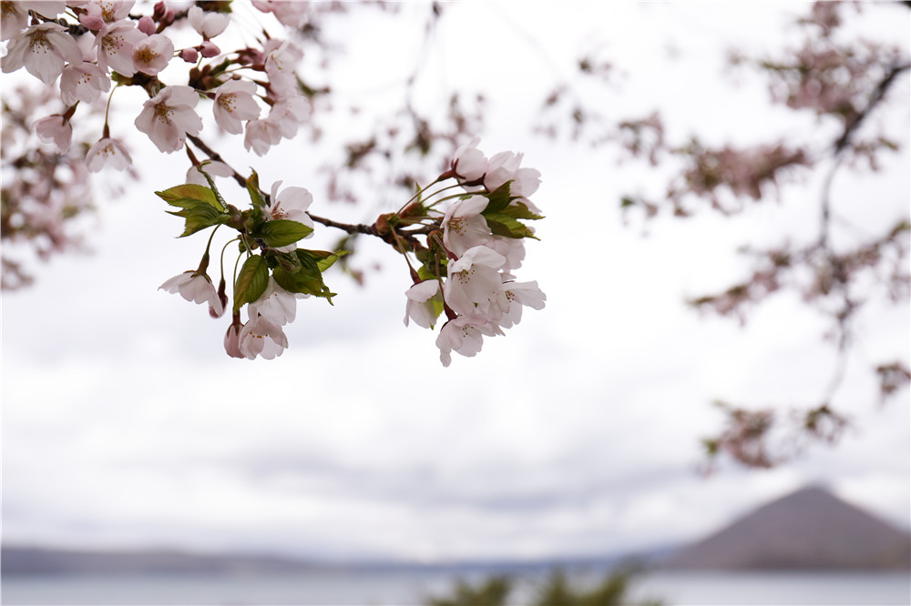
[[[548,295],[543,311],[448,369],[435,333],[402,323],[401,261],[366,242],[353,263],[380,269],[365,288],[327,274],[335,306],[301,301],[280,359],[228,358],[230,320],[156,289],[195,268],[204,247],[203,237],[174,239],[179,219],[152,194],[179,183],[186,157],[160,157],[134,137],[148,178],[100,201],[87,227],[94,254],[36,267],[35,286],[4,293],[4,540],[428,561],[598,554],[699,538],[809,482],[907,526],[908,395],[878,406],[869,372],[908,359],[904,306],[859,319],[834,399],[855,429],[837,448],[772,471],[694,472],[699,439],[721,427],[711,400],[787,409],[813,404],[831,379],[828,327],[796,295],[771,298],[743,327],[683,304],[742,278],[736,247],[812,237],[818,180],[742,217],[633,217],[624,227],[619,196],[660,188],[660,174],[530,134],[548,85],[592,49],[618,66],[603,106],[612,120],[660,108],[676,140],[811,132],[812,117],[768,109],[761,79],[736,76],[732,87],[722,60],[729,45],[794,39],[783,15],[805,6],[446,6],[421,94],[486,90],[481,149],[524,152],[542,173],[533,200],[547,218],[517,277]],[[336,75],[344,96],[381,103],[384,79],[414,65],[412,14],[353,11],[353,50]],[[907,47],[906,11],[871,27]],[[894,92],[908,98],[906,76]],[[907,105],[889,120],[902,151],[878,175],[840,173],[834,193],[840,212],[870,229],[909,206]],[[268,161],[226,155],[267,186],[283,179],[316,194],[310,184],[323,176],[308,152],[292,141]],[[225,192],[243,203],[236,188]],[[370,222],[382,202],[342,208],[317,196],[312,211]],[[322,231],[315,241],[331,246],[338,234]]]

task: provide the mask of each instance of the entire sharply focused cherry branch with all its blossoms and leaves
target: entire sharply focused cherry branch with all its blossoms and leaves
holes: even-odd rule
[[[307,19],[307,3],[252,0],[252,5],[288,27],[300,28]],[[24,69],[58,91],[63,109],[31,127],[57,155],[73,156],[79,148],[85,157],[77,172],[84,177],[103,167],[132,170],[124,139],[111,135],[110,122],[123,112],[112,117],[109,108],[121,86],[145,91],[148,100],[133,114],[133,126],[163,154],[186,149],[192,164],[184,184],[156,194],[173,207],[170,214],[185,220],[181,237],[211,230],[199,265],[159,288],[206,305],[213,318],[230,308],[224,348],[231,357],[274,359],[288,347],[283,327],[294,320],[297,299],[332,301],[334,293],[322,272],[345,251],[298,246],[313,232],[309,191],[282,188],[278,181],[266,194],[255,171],[241,177],[199,138],[204,127],[200,100],[210,102],[211,118],[221,132],[242,136],[246,150],[259,156],[296,136],[310,112],[295,74],[302,50],[290,40],[263,30],[258,45],[222,51],[220,45],[229,44],[222,34],[232,23],[230,6],[197,3],[175,9],[161,1],[150,15],[133,15],[134,0],[4,2],[2,69]],[[180,76],[171,76],[177,74],[176,66],[186,67],[180,83],[173,79]],[[167,84],[162,79],[166,74]],[[108,96],[107,106],[97,139],[73,145],[74,116],[77,111],[91,116],[93,106],[102,106],[96,103],[102,95]],[[200,162],[188,142],[209,158]],[[525,258],[525,238],[535,238],[524,221],[542,218],[529,200],[540,174],[521,166],[521,154],[486,157],[477,143],[458,148],[450,167],[431,186],[372,226],[316,217],[349,234],[381,237],[404,255],[414,283],[406,293],[405,324],[414,320],[433,328],[445,312],[436,339],[445,366],[453,351],[476,355],[484,337],[502,335],[521,319],[524,307],[541,309],[545,302],[537,282],[518,282],[513,274]],[[247,190],[250,207],[241,210],[226,202],[213,177],[232,177]],[[450,180],[455,183],[429,191]],[[225,271],[228,244],[221,249],[216,287],[209,273],[210,249],[220,227],[236,232],[228,244],[237,243],[238,257],[229,261],[234,267],[230,275]]]

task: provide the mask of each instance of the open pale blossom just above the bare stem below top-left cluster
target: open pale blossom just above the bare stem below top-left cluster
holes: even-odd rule
[[[162,152],[180,149],[187,135],[199,135],[202,119],[193,111],[200,97],[189,86],[166,86],[143,104],[136,127]]]

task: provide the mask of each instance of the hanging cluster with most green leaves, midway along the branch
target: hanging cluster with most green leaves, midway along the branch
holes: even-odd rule
[[[208,177],[205,171],[205,167],[197,170]],[[278,181],[272,185],[271,195],[266,197],[256,185],[255,173],[249,183],[251,208],[244,211],[224,203],[211,182],[210,187],[187,184],[157,193],[169,205],[180,208],[171,214],[186,219],[183,236],[209,227],[213,227],[214,236],[215,230],[222,225],[238,231],[235,239],[244,262],[231,280],[233,311],[224,347],[234,358],[273,359],[288,347],[282,327],[294,320],[297,299],[311,295],[333,296],[322,283],[322,270],[332,265],[338,256],[297,247],[297,242],[310,237],[313,231],[312,218],[307,214],[313,197],[308,190],[281,188],[281,181]],[[198,268],[169,278],[159,288],[179,294],[188,301],[207,304],[210,316],[221,318],[229,308],[223,269],[225,249],[221,253],[219,287],[215,288],[208,273],[211,241],[210,236]],[[248,320],[242,322],[241,308],[245,305]]]

